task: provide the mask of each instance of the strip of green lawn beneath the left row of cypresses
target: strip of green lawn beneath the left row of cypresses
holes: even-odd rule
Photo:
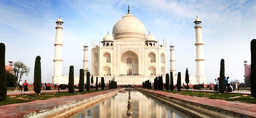
[[[108,90],[108,89],[104,89],[104,90]],[[42,93],[38,97],[36,96],[36,94],[7,96],[6,101],[0,102],[0,105],[9,105],[9,104],[14,104],[14,103],[25,103],[25,102],[30,102],[30,101],[34,101],[34,100],[46,100],[46,99],[50,99],[50,98],[61,98],[61,96],[74,96],[74,95],[87,94],[87,93],[99,92],[99,91],[104,91],[104,90],[101,90],[101,89],[90,90],[90,91],[85,90],[84,92],[74,91],[74,93],[69,93],[68,91],[44,93],[41,91]]]

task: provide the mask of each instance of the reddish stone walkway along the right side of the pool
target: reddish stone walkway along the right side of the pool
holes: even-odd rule
[[[158,90],[148,90],[148,89],[143,89],[147,90],[149,92],[159,94],[162,96],[167,96],[170,98],[177,98],[180,100],[184,101],[189,101],[191,103],[198,103],[202,105],[207,105],[210,107],[215,107],[218,109],[224,109],[232,112],[238,112],[240,114],[243,114],[241,116],[237,116],[240,118],[243,117],[251,117],[251,118],[256,118],[256,104],[251,104],[251,103],[243,103],[243,102],[233,102],[233,101],[225,101],[225,100],[217,100],[217,99],[208,99],[208,98],[199,98],[199,97],[194,97],[194,96],[185,96],[185,95],[180,95],[180,94],[172,94],[169,92],[162,92]],[[202,91],[202,90],[201,90]],[[206,90],[208,91],[208,90]],[[213,91],[213,90],[211,90]],[[237,91],[234,91],[237,93]],[[243,92],[248,94],[248,92]]]

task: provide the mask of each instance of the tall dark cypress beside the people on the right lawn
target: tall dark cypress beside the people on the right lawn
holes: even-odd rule
[[[221,70],[219,74],[219,92],[225,92],[225,66],[224,66],[224,59],[221,59]]]

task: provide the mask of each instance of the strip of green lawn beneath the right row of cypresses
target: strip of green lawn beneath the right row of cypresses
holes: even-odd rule
[[[187,92],[186,90],[182,90],[180,92],[178,92],[178,90],[173,90],[173,91],[161,90],[161,91],[170,92],[170,93],[174,93],[174,94],[182,94],[182,95],[187,95],[187,96],[196,96],[196,97],[210,98],[210,99],[220,99],[220,100],[226,100],[226,101],[240,101],[240,102],[256,104],[256,100],[251,95],[230,94],[230,93],[220,94],[218,92],[203,92],[203,91],[188,91]]]

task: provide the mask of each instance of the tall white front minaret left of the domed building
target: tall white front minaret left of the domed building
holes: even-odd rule
[[[55,39],[55,52],[54,52],[54,77],[63,76],[62,75],[62,29],[63,21],[59,17],[56,21],[56,39]]]

